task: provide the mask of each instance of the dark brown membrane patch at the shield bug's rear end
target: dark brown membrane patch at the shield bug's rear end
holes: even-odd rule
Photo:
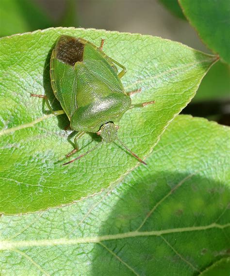
[[[71,66],[83,59],[84,44],[78,38],[62,35],[55,49],[57,59]]]

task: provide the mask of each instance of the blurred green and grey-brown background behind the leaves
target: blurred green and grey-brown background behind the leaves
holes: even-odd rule
[[[211,53],[177,0],[0,0],[0,36],[49,27],[139,32]],[[230,67],[217,62],[182,111],[230,125]]]

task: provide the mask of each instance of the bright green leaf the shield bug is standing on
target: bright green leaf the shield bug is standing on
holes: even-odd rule
[[[103,144],[78,162],[62,166],[73,149],[66,115],[46,113],[46,94],[55,110],[49,79],[50,53],[60,34],[84,37],[127,68],[122,78],[134,104],[155,105],[129,110],[119,122],[119,138],[145,158],[174,116],[194,97],[216,58],[181,43],[148,35],[56,28],[0,40],[0,211],[21,213],[68,204],[99,193],[120,181],[140,163],[116,143]],[[80,139],[80,153],[97,145],[98,135]]]

